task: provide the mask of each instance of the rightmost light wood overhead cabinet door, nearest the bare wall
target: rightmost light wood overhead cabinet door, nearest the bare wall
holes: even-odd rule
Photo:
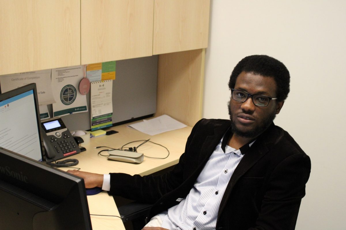
[[[153,54],[208,46],[209,0],[155,0]]]

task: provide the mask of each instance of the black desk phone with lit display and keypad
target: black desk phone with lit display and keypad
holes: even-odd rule
[[[46,161],[51,162],[80,153],[81,150],[61,118],[41,123]]]

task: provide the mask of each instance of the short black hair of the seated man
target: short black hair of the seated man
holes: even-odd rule
[[[229,78],[228,87],[230,89],[234,89],[237,77],[243,71],[273,77],[276,82],[277,101],[284,101],[287,98],[290,92],[290,72],[279,60],[267,55],[252,55],[243,58],[234,67]]]

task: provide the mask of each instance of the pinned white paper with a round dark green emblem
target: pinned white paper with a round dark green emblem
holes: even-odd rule
[[[79,92],[79,82],[84,77],[84,66],[52,69],[52,88],[56,103],[53,117],[86,112],[86,95]]]

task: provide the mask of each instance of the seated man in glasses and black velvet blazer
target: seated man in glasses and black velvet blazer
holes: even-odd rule
[[[147,226],[294,229],[311,164],[273,123],[289,81],[289,71],[272,57],[242,59],[229,80],[230,120],[197,122],[179,163],[162,176],[69,172],[83,177],[86,187],[104,188],[109,177],[109,194],[154,203]]]

